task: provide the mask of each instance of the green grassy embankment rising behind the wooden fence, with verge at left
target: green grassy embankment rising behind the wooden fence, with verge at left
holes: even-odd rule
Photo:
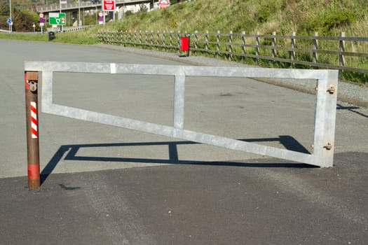
[[[57,34],[55,42],[95,44],[97,31],[199,31],[222,33],[271,34],[312,36],[368,36],[368,2],[361,0],[196,0],[183,2],[161,10],[128,15],[123,20],[107,23],[86,31]],[[1,34],[0,38],[21,38],[24,40],[48,41],[47,34]],[[302,45],[302,43],[299,43]],[[320,48],[330,48],[327,41],[320,41]],[[366,45],[350,42],[346,51],[366,52]],[[337,50],[337,47],[334,48]],[[248,52],[252,52],[249,50]],[[306,55],[306,60],[310,55]],[[320,55],[320,62],[336,62],[336,57]],[[252,62],[252,60],[247,60]],[[348,57],[350,66],[368,68],[367,58]],[[271,66],[271,62],[259,65]],[[276,64],[283,66],[283,64]],[[358,83],[368,83],[367,74],[342,73],[342,78]]]

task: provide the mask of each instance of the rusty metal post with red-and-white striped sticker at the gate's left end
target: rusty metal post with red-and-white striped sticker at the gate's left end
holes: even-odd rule
[[[38,71],[25,71],[28,188],[40,187]]]

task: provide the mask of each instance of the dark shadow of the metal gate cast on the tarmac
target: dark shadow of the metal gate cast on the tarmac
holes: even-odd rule
[[[309,153],[309,151],[302,146],[299,141],[288,135],[281,135],[278,138],[264,138],[264,139],[239,139],[246,142],[271,142],[278,141],[289,151],[297,151],[301,153]],[[177,146],[179,145],[194,145],[200,144],[193,141],[158,141],[158,142],[135,142],[135,143],[103,143],[103,144],[74,144],[63,145],[56,151],[53,158],[50,159],[46,167],[41,172],[41,184],[46,181],[48,176],[52,174],[53,170],[61,160],[69,161],[86,161],[86,162],[135,162],[135,163],[156,163],[156,164],[179,164],[179,165],[220,165],[220,166],[234,166],[234,167],[294,167],[294,168],[310,168],[313,165],[303,163],[285,162],[285,160],[276,160],[271,163],[257,163],[245,161],[208,161],[200,160],[179,160]],[[81,148],[103,148],[103,147],[126,147],[126,146],[168,146],[168,159],[153,159],[153,158],[115,158],[102,157],[91,155],[77,155]],[[67,155],[65,155],[67,154]],[[64,157],[65,155],[65,157]]]

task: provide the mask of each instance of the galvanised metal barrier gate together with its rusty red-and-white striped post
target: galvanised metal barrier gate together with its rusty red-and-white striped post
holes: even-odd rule
[[[27,154],[29,188],[37,188],[39,181],[39,136],[37,122],[38,72],[41,72],[41,111],[57,116],[124,127],[176,139],[196,141],[238,151],[246,151],[274,158],[304,162],[320,167],[332,167],[338,72],[331,70],[266,69],[210,66],[169,66],[145,64],[81,63],[81,62],[25,62],[27,111]],[[53,72],[111,73],[174,76],[173,125],[158,125],[105,113],[97,113],[53,103]],[[184,129],[184,91],[186,76],[240,78],[308,78],[318,80],[315,104],[313,153],[300,153],[282,148],[263,146],[237,139],[193,132]],[[38,166],[38,167],[37,167]]]

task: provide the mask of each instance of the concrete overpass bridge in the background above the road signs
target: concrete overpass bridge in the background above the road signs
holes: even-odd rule
[[[116,7],[132,6],[149,3],[149,10],[154,8],[154,3],[158,3],[159,0],[116,0]],[[102,1],[79,1],[76,3],[68,3],[61,5],[61,12],[76,12],[79,10],[101,10]],[[48,15],[50,12],[60,12],[60,4],[51,4],[46,6],[36,6],[36,10],[39,13]]]

